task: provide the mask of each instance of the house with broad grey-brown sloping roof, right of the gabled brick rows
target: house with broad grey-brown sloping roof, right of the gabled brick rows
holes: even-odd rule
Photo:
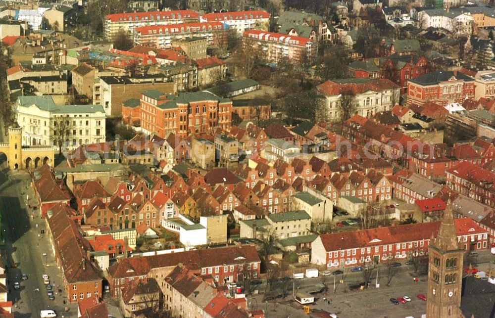
[[[393,196],[408,203],[435,197],[442,185],[410,171],[401,170],[387,177],[392,182]]]

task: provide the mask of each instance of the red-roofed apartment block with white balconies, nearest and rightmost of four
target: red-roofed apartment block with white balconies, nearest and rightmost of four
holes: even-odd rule
[[[287,58],[292,63],[312,64],[316,54],[316,46],[310,39],[282,33],[250,30],[244,32],[243,42],[259,47],[269,63]]]

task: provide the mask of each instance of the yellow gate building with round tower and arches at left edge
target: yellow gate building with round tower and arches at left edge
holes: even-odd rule
[[[0,143],[0,154],[7,157],[10,170],[35,169],[51,165],[55,152],[51,146],[22,146],[22,128],[17,123],[8,128],[8,142]]]

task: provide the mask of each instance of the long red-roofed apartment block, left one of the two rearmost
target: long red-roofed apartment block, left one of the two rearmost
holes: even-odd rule
[[[114,13],[105,17],[105,36],[108,40],[113,40],[120,31],[132,33],[135,28],[144,26],[197,22],[198,20],[198,13],[191,10]]]

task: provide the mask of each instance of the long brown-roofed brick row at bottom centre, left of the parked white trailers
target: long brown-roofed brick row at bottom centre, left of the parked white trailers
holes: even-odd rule
[[[106,273],[113,297],[131,281],[145,277],[166,277],[179,264],[200,275],[211,275],[218,284],[238,282],[245,273],[259,277],[260,259],[252,245],[192,250],[173,254],[122,259]],[[159,282],[165,288],[164,282]]]

